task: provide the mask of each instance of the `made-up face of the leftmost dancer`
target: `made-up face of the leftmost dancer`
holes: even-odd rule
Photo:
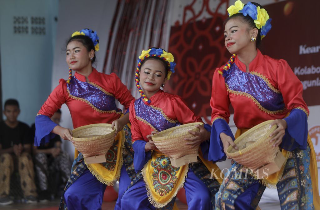
[[[92,52],[88,52],[81,42],[74,40],[67,45],[66,61],[72,70],[79,71],[91,65],[90,58],[93,56],[94,54],[92,55]]]

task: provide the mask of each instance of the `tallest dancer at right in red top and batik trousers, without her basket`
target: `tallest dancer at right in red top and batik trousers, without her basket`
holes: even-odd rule
[[[241,171],[245,167],[234,163],[216,194],[216,209],[256,209],[266,186],[277,188],[281,209],[320,209],[302,84],[286,61],[270,58],[257,49],[271,28],[265,9],[256,3],[236,1],[228,13],[225,46],[233,55],[213,74],[209,159],[225,159],[229,145],[237,149],[228,125],[231,103],[238,128],[235,137],[274,120],[271,125],[277,125],[277,129],[270,136],[276,135],[270,141],[280,147],[286,162],[279,172],[262,180],[246,176],[245,170]]]

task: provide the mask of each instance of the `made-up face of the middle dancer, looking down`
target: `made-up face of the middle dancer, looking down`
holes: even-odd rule
[[[151,97],[160,89],[167,79],[165,68],[161,61],[149,59],[140,68],[140,85],[144,93]]]

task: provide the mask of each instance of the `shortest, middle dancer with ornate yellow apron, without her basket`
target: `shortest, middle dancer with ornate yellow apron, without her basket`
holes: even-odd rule
[[[160,89],[174,72],[171,53],[161,48],[142,51],[136,69],[136,85],[141,97],[130,104],[130,122],[134,149],[134,166],[142,178],[134,183],[121,201],[123,209],[172,209],[177,192],[184,187],[188,209],[214,209],[214,195],[220,177],[211,178],[211,171],[219,168],[204,159],[208,152],[211,126],[196,125],[199,132],[186,140],[190,147],[198,147],[198,161],[181,167],[171,165],[170,158],[161,153],[151,136],[168,128],[202,122],[177,95]],[[143,88],[143,90],[141,89]],[[217,173],[220,174],[220,173]]]

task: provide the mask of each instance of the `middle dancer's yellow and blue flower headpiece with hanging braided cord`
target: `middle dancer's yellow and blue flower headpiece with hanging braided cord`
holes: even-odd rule
[[[138,66],[136,69],[136,74],[135,74],[135,82],[136,82],[136,86],[139,90],[139,93],[142,97],[142,99],[144,101],[147,101],[148,103],[150,103],[151,101],[147,98],[147,96],[143,93],[140,84],[139,84],[139,72],[140,72],[140,68],[141,68],[141,63],[144,59],[149,58],[149,57],[158,57],[161,58],[165,61],[165,63],[167,63],[168,65],[168,74],[167,74],[167,80],[170,79],[170,76],[172,73],[174,73],[174,67],[176,66],[176,63],[173,62],[174,58],[173,55],[171,53],[166,52],[165,50],[161,49],[161,48],[150,48],[148,50],[142,50],[141,55],[139,56],[138,59]]]

